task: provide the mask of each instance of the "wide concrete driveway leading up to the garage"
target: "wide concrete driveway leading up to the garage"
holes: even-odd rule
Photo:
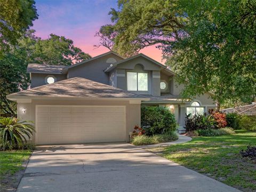
[[[127,143],[42,146],[21,191],[239,191]]]

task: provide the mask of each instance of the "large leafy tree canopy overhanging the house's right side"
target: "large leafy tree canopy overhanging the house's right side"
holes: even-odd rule
[[[112,49],[123,55],[156,45],[185,84],[185,98],[212,91],[219,102],[250,101],[256,93],[255,10],[256,0],[120,0],[109,12],[113,25],[102,26],[108,30],[101,35],[111,36]]]

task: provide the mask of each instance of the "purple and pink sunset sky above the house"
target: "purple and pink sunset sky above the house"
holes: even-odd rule
[[[65,36],[74,45],[92,57],[109,51],[106,47],[95,49],[99,38],[94,37],[101,26],[110,24],[110,8],[117,9],[117,0],[36,0],[38,19],[32,29],[43,39],[51,33]],[[162,52],[155,46],[140,51],[163,63]]]

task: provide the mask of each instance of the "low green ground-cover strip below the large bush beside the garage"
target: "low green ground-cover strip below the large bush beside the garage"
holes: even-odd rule
[[[157,134],[153,136],[137,135],[133,137],[132,144],[135,146],[153,145],[157,143],[164,143],[177,140],[179,137],[177,133],[170,132],[168,134]]]

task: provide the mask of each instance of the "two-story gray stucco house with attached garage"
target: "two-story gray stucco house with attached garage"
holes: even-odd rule
[[[215,108],[211,93],[181,100],[183,86],[161,63],[110,51],[71,66],[30,63],[31,89],[7,95],[18,117],[35,122],[37,145],[129,141],[140,109],[166,106],[180,127],[186,113]]]

